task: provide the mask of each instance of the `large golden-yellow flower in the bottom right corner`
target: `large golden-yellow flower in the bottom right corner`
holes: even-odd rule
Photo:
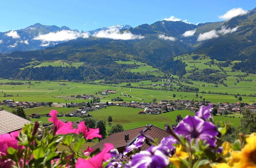
[[[246,138],[247,144],[241,152],[234,151],[228,159],[232,167],[252,168],[256,167],[256,135]]]

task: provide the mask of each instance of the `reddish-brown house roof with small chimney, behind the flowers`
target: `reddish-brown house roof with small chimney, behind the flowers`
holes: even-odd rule
[[[136,140],[136,138],[140,136],[139,131],[141,130],[153,138],[158,138],[159,142],[162,140],[163,137],[169,136],[169,134],[165,130],[151,124],[151,125],[146,125],[144,127],[139,127],[139,128],[126,130],[126,131],[113,133],[109,137],[100,141],[98,144],[96,144],[92,148],[93,149],[99,148],[100,150],[102,150],[104,148],[105,143],[111,143],[114,145],[114,148],[116,148],[120,153],[122,153],[125,150],[125,146],[132,145],[133,142]],[[151,146],[150,142],[145,142],[141,146],[141,150],[146,150],[150,146]]]

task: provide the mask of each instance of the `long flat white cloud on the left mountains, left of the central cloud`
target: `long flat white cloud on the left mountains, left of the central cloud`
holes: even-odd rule
[[[51,41],[68,41],[68,40],[74,40],[77,38],[88,38],[89,33],[80,33],[80,32],[74,32],[69,30],[63,30],[58,32],[51,32],[44,35],[38,35],[33,38],[33,40],[41,40],[43,42],[51,42]]]

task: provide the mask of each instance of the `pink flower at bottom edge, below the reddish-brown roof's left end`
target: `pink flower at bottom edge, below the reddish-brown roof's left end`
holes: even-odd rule
[[[104,144],[103,150],[90,159],[78,158],[75,164],[76,167],[102,167],[102,162],[111,157],[109,151],[114,148],[112,144]]]

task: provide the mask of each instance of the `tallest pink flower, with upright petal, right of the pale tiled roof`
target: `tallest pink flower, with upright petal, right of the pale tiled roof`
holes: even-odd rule
[[[73,129],[72,122],[69,121],[68,123],[63,123],[62,121],[58,120],[56,110],[51,110],[49,121],[53,123],[53,129],[56,129],[56,134],[68,134],[68,133],[75,133],[76,129]]]

